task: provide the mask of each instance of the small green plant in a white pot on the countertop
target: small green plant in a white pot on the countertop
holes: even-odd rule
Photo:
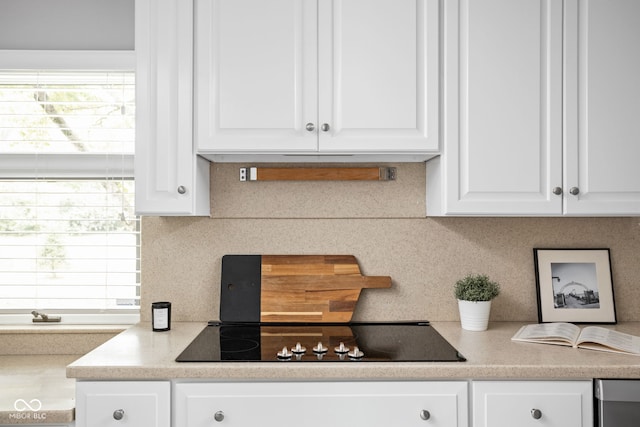
[[[484,274],[468,274],[454,287],[462,329],[484,331],[489,324],[491,300],[500,294],[500,285]]]

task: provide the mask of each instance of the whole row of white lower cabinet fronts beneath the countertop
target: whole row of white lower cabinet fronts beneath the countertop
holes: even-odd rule
[[[592,390],[591,380],[78,381],[75,426],[593,427]]]

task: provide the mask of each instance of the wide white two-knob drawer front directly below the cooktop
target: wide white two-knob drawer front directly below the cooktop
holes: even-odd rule
[[[466,427],[467,382],[177,383],[180,427]]]

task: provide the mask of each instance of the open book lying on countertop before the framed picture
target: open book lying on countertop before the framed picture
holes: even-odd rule
[[[511,339],[640,356],[640,337],[600,326],[586,326],[581,330],[572,323],[526,325]]]

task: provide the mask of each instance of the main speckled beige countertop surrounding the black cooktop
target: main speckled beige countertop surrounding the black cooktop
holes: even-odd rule
[[[466,362],[405,363],[178,363],[175,358],[205,327],[174,322],[168,332],[141,323],[67,367],[84,380],[420,380],[640,378],[640,357],[569,347],[512,342],[522,323],[495,322],[484,332],[459,322],[433,322]],[[640,335],[640,322],[608,326]]]

